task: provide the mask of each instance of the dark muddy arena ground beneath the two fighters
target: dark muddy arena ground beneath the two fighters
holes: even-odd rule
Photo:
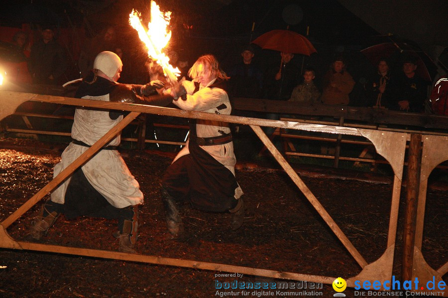
[[[0,149],[0,221],[51,180],[60,152],[44,147],[32,149],[28,144],[16,142],[14,148]],[[360,272],[359,265],[286,174],[242,162],[238,164],[236,176],[245,192],[244,225],[231,231],[229,214],[203,213],[186,205],[183,208],[186,240],[168,239],[159,182],[172,156],[154,151],[123,153],[145,195],[145,204],[140,209],[138,253],[329,277],[348,278]],[[379,258],[386,248],[390,177],[381,177],[386,179],[372,183],[307,173],[312,171],[301,174],[306,185],[366,261],[370,263]],[[401,271],[404,193],[405,188],[395,251],[396,276]],[[433,268],[439,268],[448,259],[447,199],[447,191],[428,190],[423,254]],[[22,240],[39,207],[40,203],[31,208],[7,232]],[[42,243],[117,250],[118,242],[112,236],[115,230],[113,220],[69,221],[62,216]],[[0,297],[202,298],[224,293],[217,293],[215,280],[278,281],[249,275],[215,276],[220,273],[225,272],[0,249]],[[335,294],[328,285],[314,291],[322,292],[322,296],[314,297]],[[344,293],[347,297],[354,296],[353,290],[347,289]],[[254,294],[248,297],[285,297]],[[230,297],[242,297],[242,293]]]

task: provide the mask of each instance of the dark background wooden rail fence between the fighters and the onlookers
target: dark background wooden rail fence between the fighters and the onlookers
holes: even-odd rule
[[[45,90],[47,90],[46,88]],[[249,98],[234,98],[233,99],[233,108],[234,110],[250,110],[250,111],[258,111],[258,112],[288,112],[288,114],[295,114],[295,118],[291,117],[282,117],[280,120],[283,121],[294,121],[301,123],[314,123],[314,124],[322,124],[322,125],[333,125],[333,126],[346,126],[346,127],[354,127],[354,128],[368,128],[368,129],[376,129],[376,130],[386,130],[386,131],[398,131],[405,133],[420,133],[420,134],[431,134],[431,135],[443,135],[448,136],[448,117],[445,116],[437,116],[437,115],[423,115],[417,113],[402,113],[395,111],[388,111],[385,109],[377,109],[377,108],[362,108],[362,107],[347,107],[347,106],[329,106],[329,105],[315,105],[308,106],[302,105],[295,102],[284,102],[284,101],[273,101],[266,99],[249,99]],[[236,111],[238,113],[238,111]],[[55,136],[70,136],[70,132],[60,132],[60,131],[48,131],[35,129],[32,127],[29,117],[39,117],[39,118],[51,118],[51,119],[66,119],[71,120],[73,116],[66,115],[53,115],[53,114],[37,114],[32,112],[16,112],[14,113],[16,116],[20,116],[23,122],[25,123],[27,129],[20,129],[14,127],[7,127],[4,131],[11,133],[21,133],[21,134],[40,134],[40,135],[55,135]],[[322,120],[309,120],[306,118],[310,118],[310,115],[313,115],[313,118],[319,119],[322,116],[335,115],[334,121],[322,121]],[[318,115],[318,116],[316,116]],[[404,116],[406,117],[404,119]],[[406,121],[403,121],[406,120]],[[372,122],[373,124],[366,124],[368,122]],[[404,125],[406,124],[406,126]],[[179,140],[163,140],[160,138],[147,139],[146,138],[146,121],[134,121],[132,124],[138,125],[137,128],[137,136],[126,137],[122,136],[122,141],[126,142],[135,142],[137,144],[137,149],[144,149],[145,144],[165,144],[165,145],[173,145],[173,146],[184,146],[185,145],[185,137],[182,137]],[[392,127],[390,127],[393,124]],[[396,128],[395,126],[399,126]],[[413,125],[414,129],[410,129],[409,125]],[[416,125],[420,125],[420,130],[416,130]],[[172,124],[163,124],[163,123],[153,123],[155,128],[165,128],[165,129],[186,129],[188,130],[187,125],[172,125]],[[401,127],[401,128],[400,128]],[[154,132],[155,135],[155,132]],[[376,169],[377,164],[387,163],[384,159],[378,159],[377,156],[373,158],[365,158],[369,148],[372,148],[372,144],[367,141],[353,141],[347,140],[342,137],[342,135],[336,135],[335,138],[328,138],[326,136],[308,136],[301,133],[301,131],[297,131],[297,134],[286,133],[284,129],[277,128],[272,135],[271,141],[278,137],[282,140],[283,143],[283,153],[287,159],[289,156],[307,156],[313,158],[324,158],[324,159],[334,159],[334,166],[338,167],[339,160],[349,160],[354,161],[355,165],[358,165],[360,162],[371,163],[373,165],[373,169]],[[333,154],[315,154],[315,153],[307,153],[300,152],[293,145],[293,139],[302,139],[302,140],[317,140],[321,142],[330,142],[332,148],[334,147]],[[363,150],[360,151],[360,154],[357,157],[354,156],[344,156],[341,155],[341,145],[342,144],[353,144],[353,145],[363,145],[365,146]],[[266,148],[260,151],[260,154]],[[448,168],[447,165],[438,165],[439,168]]]

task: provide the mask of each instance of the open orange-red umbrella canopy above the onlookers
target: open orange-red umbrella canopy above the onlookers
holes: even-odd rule
[[[303,35],[290,30],[272,30],[260,35],[252,43],[262,49],[275,50],[284,53],[303,54],[310,56],[316,53],[311,42]]]

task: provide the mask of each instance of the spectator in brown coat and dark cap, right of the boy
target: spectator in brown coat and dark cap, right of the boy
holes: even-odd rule
[[[331,69],[324,75],[322,84],[322,102],[333,105],[347,105],[350,101],[348,94],[355,85],[351,75],[345,70],[342,55],[333,60]]]

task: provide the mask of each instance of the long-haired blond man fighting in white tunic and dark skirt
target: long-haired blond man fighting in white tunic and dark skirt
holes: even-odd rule
[[[192,81],[173,88],[173,103],[187,111],[229,115],[226,74],[213,55],[201,56],[189,71]],[[162,196],[169,232],[182,238],[184,227],[177,206],[188,201],[193,208],[232,213],[231,228],[244,220],[241,188],[235,179],[236,158],[228,123],[191,119],[187,145],[177,154],[162,178]]]

